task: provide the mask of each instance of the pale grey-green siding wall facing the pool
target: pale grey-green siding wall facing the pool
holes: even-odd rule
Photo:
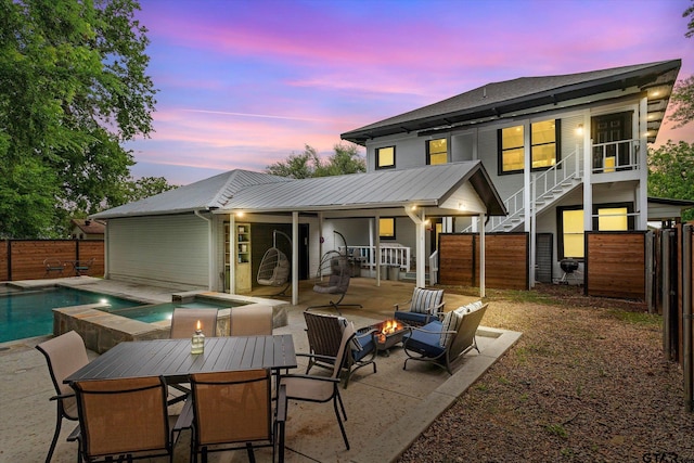
[[[208,286],[208,224],[190,215],[108,220],[108,278]]]

